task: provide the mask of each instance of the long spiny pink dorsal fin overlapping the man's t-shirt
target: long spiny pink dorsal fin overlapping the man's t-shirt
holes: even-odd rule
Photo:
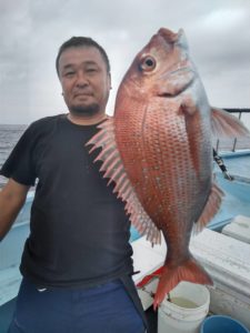
[[[126,201],[126,212],[130,214],[130,221],[141,235],[152,244],[160,244],[161,233],[150,216],[141,205],[137,193],[124,170],[114,137],[113,118],[109,118],[98,125],[100,131],[93,135],[86,145],[93,145],[90,153],[98,148],[102,148],[94,161],[102,161],[101,171],[104,171],[103,178],[109,178],[110,184],[116,183],[114,193],[118,198]]]

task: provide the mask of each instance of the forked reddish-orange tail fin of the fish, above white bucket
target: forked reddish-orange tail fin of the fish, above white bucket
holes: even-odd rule
[[[164,296],[181,281],[199,284],[213,284],[209,274],[191,256],[179,266],[166,265],[160,278],[153,300],[153,309],[160,305]]]

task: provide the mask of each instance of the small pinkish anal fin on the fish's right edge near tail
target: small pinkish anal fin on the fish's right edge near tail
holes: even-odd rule
[[[222,196],[224,193],[221,189],[213,182],[211,186],[211,192],[208,198],[208,201],[204,205],[202,214],[200,215],[197,223],[193,225],[193,233],[199,233],[203,230],[203,228],[211,221],[211,219],[216,215],[216,213],[220,209],[220,204],[222,201]]]

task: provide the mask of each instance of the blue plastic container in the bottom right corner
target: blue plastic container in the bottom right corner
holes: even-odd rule
[[[208,316],[201,324],[200,333],[250,333],[237,320],[227,315]]]

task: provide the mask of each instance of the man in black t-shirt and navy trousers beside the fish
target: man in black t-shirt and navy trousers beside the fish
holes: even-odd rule
[[[38,180],[9,333],[144,332],[130,223],[84,147],[107,117],[109,60],[79,37],[61,46],[56,64],[69,113],[32,123],[1,169],[9,182],[0,192],[0,239]]]

